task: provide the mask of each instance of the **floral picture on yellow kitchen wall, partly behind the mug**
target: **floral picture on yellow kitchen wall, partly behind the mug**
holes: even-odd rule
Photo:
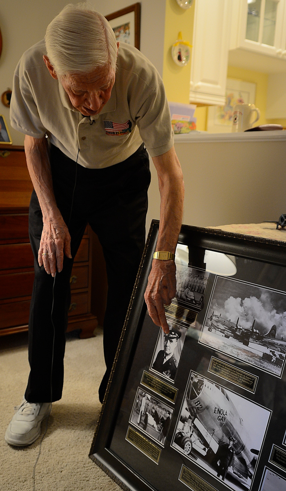
[[[255,104],[256,83],[227,79],[225,106],[209,106],[207,131],[231,133],[233,107],[235,104]]]

